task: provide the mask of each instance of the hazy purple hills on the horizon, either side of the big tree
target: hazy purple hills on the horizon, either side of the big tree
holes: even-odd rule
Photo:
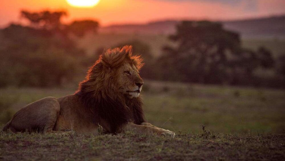
[[[100,28],[103,33],[171,34],[180,21],[155,21],[147,24],[110,25]],[[244,38],[285,38],[285,15],[236,21],[221,21],[228,30],[236,31]]]

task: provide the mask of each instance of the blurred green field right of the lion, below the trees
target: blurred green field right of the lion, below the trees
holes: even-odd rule
[[[172,131],[198,132],[201,123],[223,133],[267,134],[285,129],[284,90],[148,84],[149,93],[143,95],[146,118]]]

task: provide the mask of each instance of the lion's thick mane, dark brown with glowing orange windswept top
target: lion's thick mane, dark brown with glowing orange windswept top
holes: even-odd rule
[[[94,113],[94,123],[100,123],[100,119],[109,123],[110,133],[119,132],[130,121],[138,125],[144,122],[141,97],[131,99],[119,93],[117,69],[126,61],[138,70],[143,66],[140,56],[132,56],[131,46],[107,50],[89,69],[75,93]]]

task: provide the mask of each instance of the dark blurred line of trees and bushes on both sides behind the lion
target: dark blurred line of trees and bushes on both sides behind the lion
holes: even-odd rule
[[[96,33],[97,21],[63,24],[65,11],[21,11],[21,16],[28,26],[11,24],[0,31],[0,87],[60,86],[86,70],[104,51],[99,48],[92,58],[87,57],[73,39]],[[148,44],[138,40],[114,47],[133,45],[134,54],[144,57],[141,76],[147,79],[285,87],[285,56],[274,59],[264,47],[257,51],[242,48],[240,35],[225,30],[221,23],[182,21],[169,40],[174,45],[164,46],[158,58]],[[258,75],[257,71],[273,74]]]

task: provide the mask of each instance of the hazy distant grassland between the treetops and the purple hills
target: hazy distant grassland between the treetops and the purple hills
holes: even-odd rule
[[[95,35],[87,35],[84,38],[78,39],[78,46],[84,48],[88,55],[92,55],[98,48],[111,48],[117,44],[129,42],[132,40],[139,40],[148,44],[154,56],[162,54],[161,49],[165,45],[175,45],[168,40],[167,35],[163,34],[116,34],[116,33],[98,33]],[[243,48],[257,50],[264,46],[268,48],[275,58],[285,54],[285,40],[273,38],[243,38],[241,45]],[[127,45],[127,44],[126,44]]]

